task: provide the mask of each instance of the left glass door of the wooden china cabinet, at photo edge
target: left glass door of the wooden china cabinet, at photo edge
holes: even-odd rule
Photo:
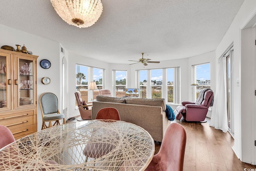
[[[0,111],[11,110],[10,54],[0,53]]]

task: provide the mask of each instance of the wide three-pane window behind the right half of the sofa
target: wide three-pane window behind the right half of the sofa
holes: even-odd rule
[[[180,104],[180,67],[137,72],[141,98],[165,98],[168,103]]]

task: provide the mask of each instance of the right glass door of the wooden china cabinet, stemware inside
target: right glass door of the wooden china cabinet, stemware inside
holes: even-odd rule
[[[18,89],[18,102],[16,108],[33,106],[36,104],[34,97],[35,92],[35,60],[32,58],[18,57],[17,58],[17,74],[18,79],[15,80]]]

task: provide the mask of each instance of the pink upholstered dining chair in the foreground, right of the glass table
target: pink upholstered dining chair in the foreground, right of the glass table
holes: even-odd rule
[[[153,156],[145,171],[183,171],[185,147],[185,129],[180,124],[170,124],[159,152]]]

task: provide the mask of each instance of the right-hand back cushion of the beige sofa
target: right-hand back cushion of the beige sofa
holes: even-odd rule
[[[147,105],[147,106],[160,106],[162,110],[166,110],[166,104],[164,98],[132,98],[127,97],[125,99],[127,104],[139,104],[139,105]]]

